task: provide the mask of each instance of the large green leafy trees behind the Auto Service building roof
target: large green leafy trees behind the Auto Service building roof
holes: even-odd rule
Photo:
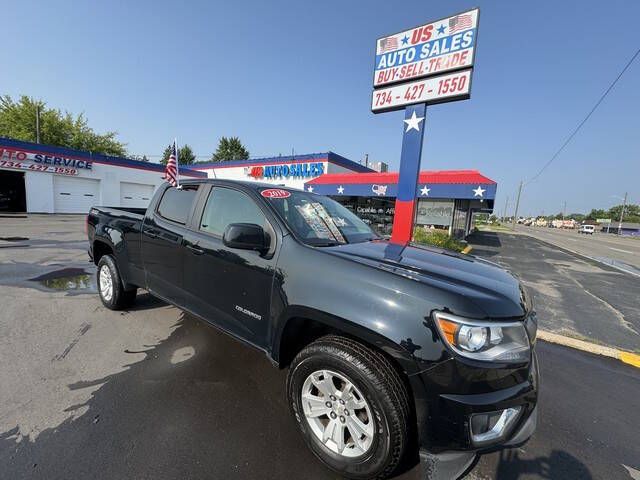
[[[126,145],[116,140],[116,132],[99,134],[87,124],[84,114],[47,108],[42,100],[21,96],[14,101],[0,96],[0,136],[25,142],[37,141],[36,112],[40,110],[40,143],[58,147],[88,150],[105,155],[124,157]]]

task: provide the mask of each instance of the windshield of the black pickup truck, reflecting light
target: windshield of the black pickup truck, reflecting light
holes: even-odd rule
[[[262,192],[265,195],[269,190]],[[282,190],[281,190],[282,191]],[[378,238],[356,215],[328,197],[286,190],[267,197],[296,236],[308,245],[331,246]]]

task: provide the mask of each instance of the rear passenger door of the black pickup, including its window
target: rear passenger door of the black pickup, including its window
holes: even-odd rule
[[[146,288],[185,306],[183,238],[193,212],[198,185],[167,188],[142,225],[141,252]]]

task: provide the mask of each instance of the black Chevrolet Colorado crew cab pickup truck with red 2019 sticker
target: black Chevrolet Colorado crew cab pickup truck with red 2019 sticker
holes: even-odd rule
[[[420,452],[455,478],[535,430],[535,312],[493,263],[228,180],[164,184],[146,211],[92,208],[87,231],[107,308],[143,288],[288,367],[292,416],[341,475],[386,478]]]

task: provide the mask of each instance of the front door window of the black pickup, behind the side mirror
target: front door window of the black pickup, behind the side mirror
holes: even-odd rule
[[[247,195],[230,188],[211,189],[200,220],[200,230],[222,236],[230,223],[255,223],[265,227],[260,207]]]

